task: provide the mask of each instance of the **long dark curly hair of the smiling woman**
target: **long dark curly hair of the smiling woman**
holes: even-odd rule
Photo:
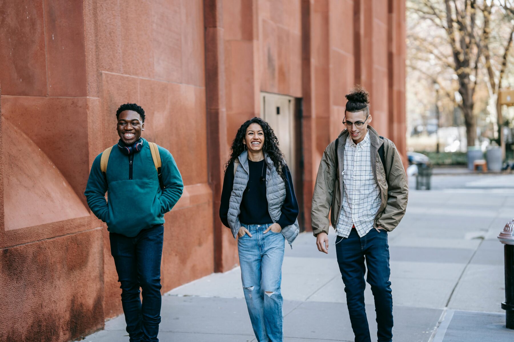
[[[260,117],[254,117],[248,120],[243,125],[241,125],[241,127],[237,130],[234,141],[232,142],[232,147],[230,148],[230,158],[228,159],[228,162],[225,164],[225,171],[227,171],[227,167],[230,165],[230,163],[233,163],[234,159],[237,158],[245,150],[243,140],[246,136],[246,130],[248,126],[250,126],[251,124],[258,124],[262,127],[262,130],[264,131],[263,151],[266,152],[267,155],[271,158],[271,160],[273,161],[273,165],[277,169],[277,172],[280,174],[280,176],[282,177],[282,179],[284,179],[285,182],[285,175],[282,172],[282,165],[285,164],[284,154],[279,148],[279,139],[277,138],[269,124]]]

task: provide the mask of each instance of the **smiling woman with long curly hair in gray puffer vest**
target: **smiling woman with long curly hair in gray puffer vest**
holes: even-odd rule
[[[263,119],[248,120],[232,143],[219,217],[238,237],[243,291],[253,331],[261,341],[282,340],[284,240],[291,244],[298,235],[298,212],[277,136]]]

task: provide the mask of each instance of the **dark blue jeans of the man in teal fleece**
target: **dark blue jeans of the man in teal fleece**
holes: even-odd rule
[[[134,237],[110,233],[121,304],[130,342],[158,342],[161,284],[160,264],[164,226],[142,230]],[[142,289],[143,302],[139,298]]]

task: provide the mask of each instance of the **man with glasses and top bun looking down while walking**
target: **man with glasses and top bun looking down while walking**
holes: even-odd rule
[[[318,250],[324,253],[328,253],[331,222],[336,229],[337,261],[355,341],[371,342],[364,308],[367,267],[366,280],[375,299],[378,342],[391,342],[393,299],[388,232],[405,214],[408,186],[393,142],[369,126],[372,117],[368,97],[360,86],[346,95],[346,129],[323,153],[314,187],[311,224]]]

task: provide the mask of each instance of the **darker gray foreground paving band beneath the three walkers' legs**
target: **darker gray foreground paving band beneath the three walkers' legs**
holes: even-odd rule
[[[252,341],[250,319],[245,301],[236,298],[205,298],[167,296],[163,301],[159,327],[161,341]],[[287,308],[286,308],[287,307]],[[375,309],[366,306],[372,335],[376,332]],[[395,306],[393,334],[397,342],[425,342],[440,316],[441,310]],[[284,301],[284,336],[286,341],[353,341],[345,304],[297,303]],[[105,330],[89,335],[91,342],[126,342],[123,315],[108,321]],[[119,323],[122,324],[119,324]],[[306,324],[308,323],[308,324]],[[123,326],[123,330],[118,328]],[[227,333],[230,332],[230,333]],[[410,339],[412,338],[412,339]]]

